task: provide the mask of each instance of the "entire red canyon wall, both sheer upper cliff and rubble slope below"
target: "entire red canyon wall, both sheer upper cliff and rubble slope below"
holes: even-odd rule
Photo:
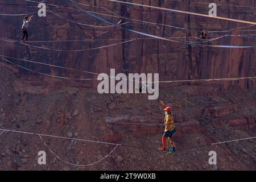
[[[20,3],[20,1],[3,2]],[[126,6],[117,3],[113,6],[108,1],[80,2],[108,7],[119,15],[123,15],[126,11]],[[133,2],[141,3],[140,1]],[[208,10],[208,5],[195,4],[192,1],[184,2],[143,1],[144,4],[179,10],[201,13]],[[226,3],[226,1],[219,2]],[[48,1],[48,3],[68,5],[64,1]],[[255,6],[256,1],[229,1],[228,3]],[[71,19],[66,9],[50,8],[55,13]],[[84,8],[86,9],[86,6]],[[218,11],[220,16],[252,21],[255,19],[253,14],[235,13],[248,12],[247,9],[229,6],[220,8]],[[89,9],[99,13],[108,13],[99,8]],[[146,9],[144,11],[142,8],[130,9],[132,13],[127,16],[132,19],[193,28],[191,31],[180,31],[139,23],[125,25],[134,30],[158,36],[198,35],[197,31],[200,31],[201,27],[207,27],[209,30],[228,30],[246,26],[183,14]],[[35,10],[33,6],[17,6],[15,9],[10,6],[0,6],[1,13],[6,14],[34,12]],[[82,23],[106,25],[81,11],[69,10],[69,13]],[[119,20],[113,17],[112,19],[113,22]],[[2,27],[0,36],[19,40],[20,20],[16,16],[1,18],[0,23],[5,26]],[[74,23],[48,13],[46,18],[35,17],[34,22],[30,24],[30,39],[118,38],[125,40],[141,37],[119,28],[113,28],[108,34],[96,36],[92,34],[92,31],[102,32],[106,28],[94,28],[93,30],[90,27],[83,28],[86,31],[81,30]],[[246,33],[232,32],[232,34]],[[30,44],[57,49],[85,49],[117,42],[117,40],[107,40]],[[116,72],[123,73],[160,73],[160,80],[256,76],[255,49],[203,48],[144,39],[94,51],[67,53],[26,47],[19,43],[7,43],[2,40],[0,43],[1,55],[41,60],[43,63],[96,73],[109,73],[110,68],[115,68]],[[253,43],[253,39],[228,37],[210,44],[252,45]],[[94,77],[88,73],[38,66],[14,59],[11,61],[23,67],[56,76]],[[48,148],[39,136],[5,132],[0,135],[0,170],[255,170],[256,161],[251,156],[255,156],[256,153],[255,139],[191,148],[255,136],[256,90],[253,80],[161,84],[159,100],[149,101],[146,94],[98,94],[97,81],[72,81],[39,76],[2,60],[0,67],[0,126],[4,129],[158,148],[161,145],[164,127],[163,110],[159,107],[160,100],[174,107],[177,125],[174,138],[177,144],[175,155],[164,155],[162,152],[143,148],[118,146],[102,162],[87,167],[74,167],[59,160],[57,156],[69,163],[90,164],[104,158],[114,146],[42,137]],[[184,149],[187,147],[189,148]],[[49,149],[57,156],[53,155]],[[47,152],[46,166],[40,166],[37,163],[38,151],[42,150]],[[208,164],[208,152],[211,150],[217,152],[217,166]]]

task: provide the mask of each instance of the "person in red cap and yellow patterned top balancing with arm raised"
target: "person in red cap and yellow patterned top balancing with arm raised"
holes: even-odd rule
[[[166,138],[168,137],[172,146],[170,151],[175,152],[175,144],[174,144],[174,141],[172,140],[172,135],[174,135],[176,130],[175,130],[175,124],[174,124],[174,115],[172,114],[172,108],[164,105],[163,101],[161,101],[160,103],[163,106],[164,111],[166,113],[164,117],[164,124],[166,128],[164,129],[164,134],[162,137],[163,147],[158,148],[158,150],[166,151],[166,145],[167,145]]]

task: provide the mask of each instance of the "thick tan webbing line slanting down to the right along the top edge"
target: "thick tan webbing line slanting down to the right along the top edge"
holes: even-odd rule
[[[205,17],[205,18],[221,19],[221,20],[228,20],[228,21],[231,21],[231,22],[240,22],[240,23],[255,24],[256,25],[256,22],[249,22],[249,21],[245,21],[245,20],[232,19],[232,18],[224,18],[224,17],[220,17],[220,16],[209,16],[209,15],[204,15],[204,14],[199,14],[199,13],[192,13],[192,12],[189,12],[189,11],[167,9],[167,8],[164,8],[164,7],[157,7],[157,6],[150,6],[150,5],[141,5],[141,4],[138,4],[138,3],[123,2],[123,1],[117,1],[117,0],[105,0],[105,1],[124,3],[126,5],[150,7],[150,8],[153,8],[153,9],[173,11],[173,12],[176,12],[176,13],[183,13],[183,14],[202,16],[202,17]]]

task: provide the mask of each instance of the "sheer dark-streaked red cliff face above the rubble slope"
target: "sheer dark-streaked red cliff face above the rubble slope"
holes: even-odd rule
[[[141,3],[140,1],[132,1]],[[10,3],[9,0],[4,0],[3,3]],[[25,2],[23,2],[25,3]],[[48,1],[49,4],[59,6],[71,6],[67,2]],[[222,1],[216,3],[222,4]],[[237,1],[229,1],[230,4],[236,4]],[[253,1],[240,1],[242,6],[254,6]],[[6,14],[27,13],[37,11],[35,3],[27,2],[28,6],[1,6],[0,11]],[[131,28],[136,31],[145,32],[151,35],[162,37],[182,37],[182,36],[199,36],[202,28],[207,28],[208,31],[222,31],[248,26],[236,22],[226,22],[216,19],[201,18],[187,14],[172,13],[170,11],[158,11],[144,7],[134,7],[121,5],[120,3],[112,3],[108,1],[88,1],[86,4],[92,6],[102,6],[116,14],[123,15],[127,8],[130,10],[126,14],[126,18],[122,23],[125,28]],[[196,11],[198,13],[207,14],[208,4],[187,2],[172,2],[172,1],[145,1],[145,5],[169,7],[175,10]],[[34,5],[34,6],[31,6]],[[99,7],[82,8],[95,11],[98,13],[111,14],[109,11]],[[91,16],[77,9],[64,9],[63,7],[47,6],[48,10],[53,11],[67,19],[75,18],[77,22],[85,24],[95,24],[97,26],[108,26]],[[239,11],[241,13],[235,13]],[[254,14],[243,14],[243,11],[250,10],[232,6],[219,6],[217,9],[218,16],[224,16],[234,19],[246,19],[254,21]],[[71,15],[69,15],[69,13]],[[72,17],[71,17],[72,16]],[[8,20],[7,20],[8,17]],[[115,16],[104,16],[111,19],[112,22],[118,22],[120,18]],[[139,19],[147,22],[158,23],[146,24],[137,22]],[[0,23],[4,26],[0,32],[0,36],[9,39],[21,39],[22,32],[22,16],[3,16]],[[188,28],[187,31],[160,26],[159,24],[167,24],[176,27]],[[248,30],[249,28],[246,28]],[[61,43],[29,43],[34,46],[42,46],[55,49],[88,49],[106,46],[109,44],[119,43],[122,40],[130,38],[148,38],[146,36],[135,34],[134,32],[125,31],[119,27],[110,28],[106,34],[98,35],[98,33],[109,30],[102,27],[79,27],[75,23],[47,12],[47,16],[39,18],[36,14],[29,25],[28,34],[29,40],[82,40],[91,39],[92,41],[85,42],[61,42]],[[247,32],[227,32],[210,34],[210,36],[221,36],[225,34],[246,34]],[[108,39],[100,40],[98,39]],[[119,39],[119,40],[111,40]],[[198,39],[187,39],[198,41]],[[218,39],[214,42],[209,42],[212,45],[234,45],[234,46],[249,46],[254,45],[254,39],[243,39],[238,36],[228,36]],[[255,46],[255,45],[254,45]],[[160,80],[190,80],[190,79],[205,79],[205,78],[227,78],[227,77],[248,77],[256,75],[256,57],[255,49],[229,49],[229,48],[211,48],[188,46],[181,43],[167,42],[158,39],[141,39],[133,42],[118,44],[116,46],[94,49],[82,52],[60,52],[47,49],[39,49],[35,47],[24,46],[19,43],[4,42],[1,40],[1,55],[18,57],[27,60],[41,60],[43,63],[55,64],[69,68],[81,69],[84,71],[96,73],[109,73],[110,68],[115,68],[116,73],[159,73]],[[22,62],[13,60],[15,63],[37,72],[48,73],[56,76],[72,77],[72,78],[96,78],[95,75],[89,73],[73,72],[67,69],[49,67],[47,65],[36,65],[34,63]],[[1,66],[6,64],[1,60]],[[7,67],[7,64],[6,64]],[[18,69],[19,73],[25,77],[38,78],[38,75],[22,68]],[[53,85],[56,85],[55,82]],[[70,81],[69,81],[70,84]],[[77,84],[83,86],[96,86],[97,81],[84,80],[77,81]],[[255,82],[252,80],[240,81],[216,81],[204,82],[203,85],[215,86],[218,89],[226,89],[229,86],[240,86],[241,88],[252,88]],[[175,84],[172,84],[172,86]],[[161,87],[170,86],[162,84]]]

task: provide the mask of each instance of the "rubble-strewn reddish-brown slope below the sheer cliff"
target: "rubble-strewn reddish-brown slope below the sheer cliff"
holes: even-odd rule
[[[131,146],[158,148],[163,132],[163,110],[158,101],[142,94],[102,94],[93,89],[34,86],[1,69],[1,128],[50,134]],[[18,85],[16,85],[18,83]],[[51,85],[51,81],[47,82]],[[23,91],[18,91],[23,88]],[[33,88],[33,92],[30,89]],[[177,153],[164,153],[119,146],[101,163],[114,146],[76,140],[5,132],[1,137],[0,169],[73,170],[255,170],[255,140],[201,146],[255,135],[255,93],[233,88],[208,97],[191,93],[190,86],[163,89],[161,98],[174,106]],[[26,91],[25,91],[26,89]],[[183,149],[187,148],[188,149]],[[192,148],[191,148],[192,147]],[[195,147],[195,148],[193,148]],[[217,166],[208,164],[208,152],[217,152]],[[38,165],[38,152],[46,151],[47,165]]]

